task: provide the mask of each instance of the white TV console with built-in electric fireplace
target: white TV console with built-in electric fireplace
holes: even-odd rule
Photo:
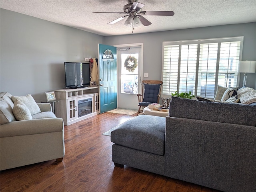
[[[98,86],[59,89],[54,90],[54,93],[56,97],[55,114],[58,118],[63,119],[64,125],[71,125],[99,114]]]

